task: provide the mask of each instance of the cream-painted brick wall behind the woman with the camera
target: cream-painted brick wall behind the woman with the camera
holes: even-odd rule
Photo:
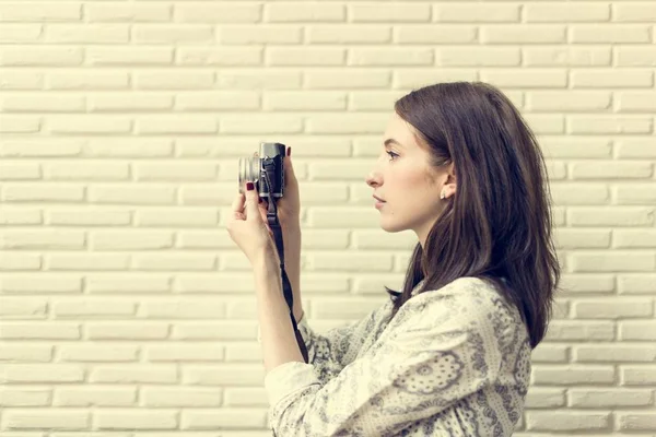
[[[655,69],[651,0],[0,0],[0,436],[269,436],[237,158],[293,146],[304,306],[341,324],[415,243],[364,184],[391,105],[455,80],[520,108],[557,203],[516,435],[654,436]]]

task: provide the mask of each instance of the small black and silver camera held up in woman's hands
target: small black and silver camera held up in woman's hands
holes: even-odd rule
[[[260,143],[259,152],[239,158],[239,192],[244,185],[254,182],[260,198],[282,198],[284,193],[283,160],[286,146],[281,143]]]

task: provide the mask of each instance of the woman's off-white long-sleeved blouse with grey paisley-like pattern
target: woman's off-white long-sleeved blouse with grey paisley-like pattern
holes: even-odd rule
[[[509,436],[522,416],[530,344],[496,287],[460,277],[318,334],[298,322],[309,363],[265,377],[278,437]]]

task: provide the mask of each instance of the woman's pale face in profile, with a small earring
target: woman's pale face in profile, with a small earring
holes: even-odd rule
[[[389,233],[412,229],[422,245],[440,216],[440,193],[449,180],[453,164],[431,168],[429,153],[418,144],[414,128],[394,113],[380,144],[380,154],[366,184],[373,196],[385,200],[379,208],[380,227]],[[433,180],[431,180],[433,179]],[[455,184],[452,184],[455,191]],[[447,197],[453,192],[447,187]],[[372,208],[376,202],[372,198]]]

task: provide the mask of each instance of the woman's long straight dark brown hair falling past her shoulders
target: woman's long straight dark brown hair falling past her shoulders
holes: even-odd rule
[[[398,99],[434,168],[454,164],[457,192],[417,244],[391,317],[418,293],[462,276],[492,281],[519,310],[536,347],[547,332],[560,265],[544,158],[512,102],[482,82],[438,83]]]

